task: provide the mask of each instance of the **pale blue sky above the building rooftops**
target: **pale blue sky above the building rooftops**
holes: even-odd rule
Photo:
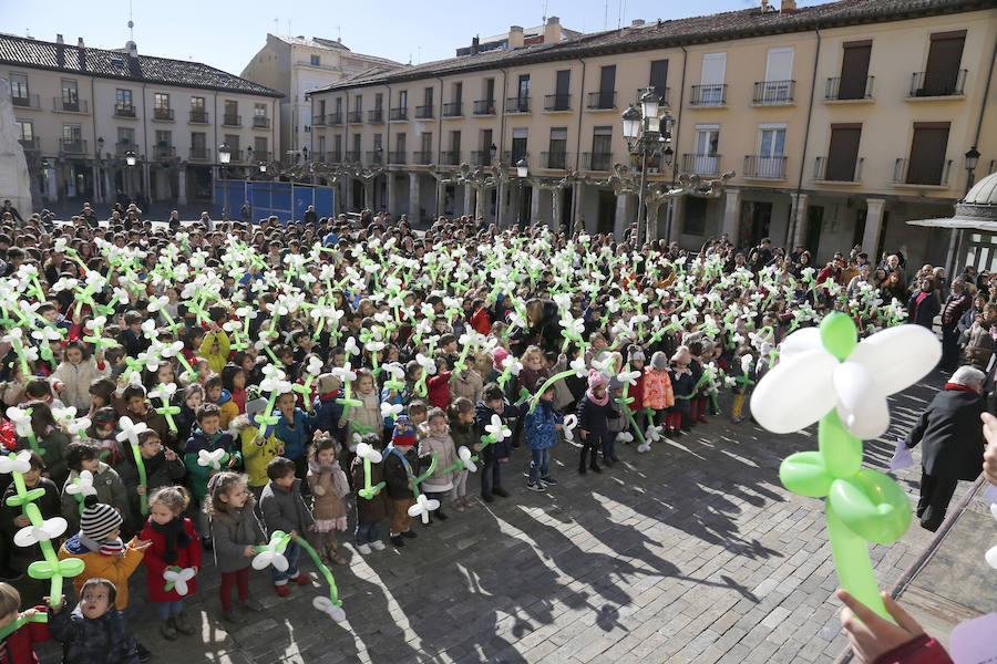
[[[771,0],[779,7],[780,0]],[[800,6],[819,4],[802,0]],[[120,49],[129,40],[129,0],[0,0],[0,31],[88,46]],[[759,0],[133,0],[138,52],[196,60],[238,74],[266,33],[342,38],[352,51],[399,62],[452,58],[475,34],[539,25],[545,15],[595,32],[654,21],[758,7]]]

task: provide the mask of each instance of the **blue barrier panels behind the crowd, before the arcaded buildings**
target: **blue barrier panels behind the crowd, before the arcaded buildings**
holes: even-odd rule
[[[336,194],[331,187],[317,187],[297,183],[269,183],[246,180],[215,180],[214,218],[222,219],[223,206],[228,200],[228,216],[239,218],[243,204],[249,201],[254,221],[276,215],[281,224],[305,218],[305,210],[314,205],[319,217],[331,217]]]

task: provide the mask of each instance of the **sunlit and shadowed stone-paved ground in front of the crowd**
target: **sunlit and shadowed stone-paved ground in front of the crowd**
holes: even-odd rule
[[[888,468],[896,437],[941,384],[934,374],[892,401],[893,426],[866,443],[867,465]],[[778,479],[785,456],[815,448],[815,427],[774,436],[711,417],[646,455],[619,446],[621,463],[600,475],[578,476],[576,450],[555,447],[561,484],[544,494],[525,489],[528,453],[520,448],[503,470],[511,498],[415,526],[419,538],[401,552],[361,557],[342,547],[349,564],[333,573],[347,623],[311,608],[323,587],[308,561],[316,583],[289,599],[254,572],[253,595],[267,609],[238,629],[218,618],[209,563],[187,600],[201,636],[158,636],[144,568],[133,577],[129,614],[154,661],[185,664],[830,663],[845,640],[823,501],[792,495]],[[919,467],[897,479],[916,499]],[[871,549],[882,588],[928,535],[913,525],[901,541]],[[43,661],[58,661],[55,651]]]

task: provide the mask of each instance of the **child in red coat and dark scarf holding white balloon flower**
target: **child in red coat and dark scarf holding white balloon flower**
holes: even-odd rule
[[[162,487],[148,499],[148,521],[141,539],[152,541],[143,562],[148,599],[163,621],[160,633],[171,641],[194,634],[184,616],[184,598],[197,590],[201,542],[194,523],[184,517],[191,495],[183,487]]]

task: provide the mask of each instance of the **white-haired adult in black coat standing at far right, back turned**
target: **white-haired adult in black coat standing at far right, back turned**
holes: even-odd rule
[[[976,479],[983,467],[983,380],[974,366],[956,370],[907,436],[907,447],[924,443],[917,517],[926,530],[942,525],[958,481]]]

